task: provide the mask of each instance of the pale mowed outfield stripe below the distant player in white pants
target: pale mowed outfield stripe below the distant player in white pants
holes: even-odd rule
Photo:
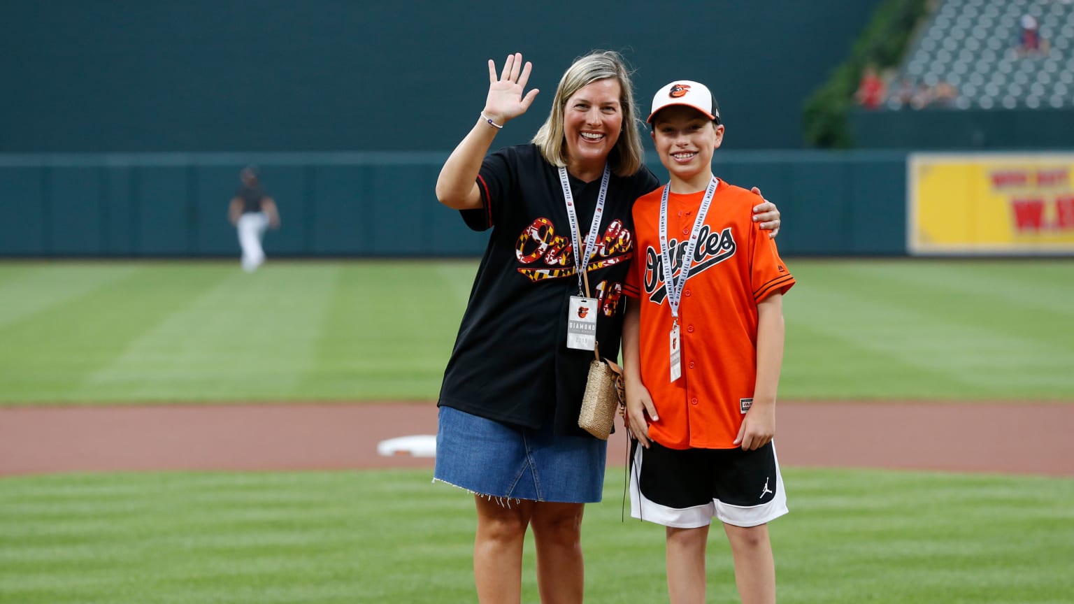
[[[338,267],[275,263],[220,278],[87,376],[117,400],[291,400],[316,363]]]

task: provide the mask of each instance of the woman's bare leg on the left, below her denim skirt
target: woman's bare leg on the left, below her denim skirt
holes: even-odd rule
[[[508,507],[482,495],[475,495],[474,500],[477,502],[474,580],[478,602],[518,604],[522,601],[522,545],[535,502],[512,500]]]

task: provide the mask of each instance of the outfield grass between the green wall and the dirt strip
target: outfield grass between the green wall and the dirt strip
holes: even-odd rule
[[[436,398],[476,261],[0,263],[0,404]],[[1074,260],[789,260],[784,399],[1074,401]]]

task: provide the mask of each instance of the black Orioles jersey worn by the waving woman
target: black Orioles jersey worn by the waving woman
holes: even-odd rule
[[[619,356],[622,288],[635,256],[630,208],[655,189],[656,176],[612,174],[590,259],[590,294],[598,300],[597,341],[604,357]],[[536,145],[485,157],[478,176],[483,207],[461,212],[474,230],[492,229],[448,361],[438,405],[505,423],[556,432],[578,428],[593,353],[569,349],[567,305],[578,293],[570,221],[557,168]],[[580,239],[589,232],[600,178],[570,177]]]

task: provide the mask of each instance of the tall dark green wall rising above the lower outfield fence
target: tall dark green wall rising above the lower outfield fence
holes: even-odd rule
[[[485,61],[533,61],[548,115],[570,61],[620,51],[642,107],[709,84],[734,148],[800,148],[801,104],[879,0],[3,0],[0,153],[450,150]]]

